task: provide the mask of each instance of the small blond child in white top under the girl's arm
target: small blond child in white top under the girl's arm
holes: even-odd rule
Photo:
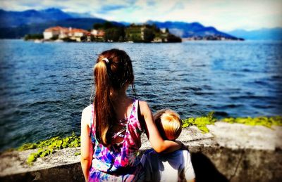
[[[181,120],[173,110],[159,110],[154,122],[164,140],[176,140],[181,133]],[[170,153],[158,153],[148,150],[142,156],[145,169],[145,181],[195,181],[188,150],[176,150]]]

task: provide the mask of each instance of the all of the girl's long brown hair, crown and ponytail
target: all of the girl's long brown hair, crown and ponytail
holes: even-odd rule
[[[94,79],[96,93],[93,122],[96,126],[96,138],[99,143],[108,146],[111,144],[111,128],[116,122],[111,91],[118,91],[129,84],[133,85],[134,81],[133,67],[128,54],[116,48],[101,53],[94,66]]]

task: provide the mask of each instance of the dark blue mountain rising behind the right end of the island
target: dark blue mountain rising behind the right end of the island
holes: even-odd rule
[[[158,22],[158,21],[147,21],[147,24],[157,25],[159,28],[168,28],[169,32],[176,34],[182,38],[188,37],[205,37],[205,36],[221,36],[226,37],[228,39],[236,39],[235,36],[231,34],[226,34],[224,32],[220,32],[216,30],[214,27],[204,27],[199,22]]]

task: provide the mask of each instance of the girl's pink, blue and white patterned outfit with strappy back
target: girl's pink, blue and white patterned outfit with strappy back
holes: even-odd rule
[[[95,137],[95,126],[92,124],[94,107],[91,107],[90,136],[94,152],[89,181],[143,181],[145,174],[138,157],[142,134],[137,115],[138,100],[133,100],[130,116],[125,119],[123,141],[109,148],[99,143]]]

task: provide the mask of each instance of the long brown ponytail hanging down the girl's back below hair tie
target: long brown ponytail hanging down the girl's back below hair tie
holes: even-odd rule
[[[111,143],[108,131],[115,120],[115,112],[110,98],[111,80],[107,64],[105,60],[101,60],[94,67],[96,93],[94,98],[95,121],[93,123],[96,126],[96,138],[104,146]]]

